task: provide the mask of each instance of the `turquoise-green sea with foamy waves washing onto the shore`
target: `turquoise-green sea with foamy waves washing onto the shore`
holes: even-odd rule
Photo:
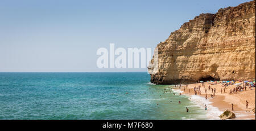
[[[1,72],[0,119],[207,119],[207,113],[167,85],[151,84],[146,72]]]

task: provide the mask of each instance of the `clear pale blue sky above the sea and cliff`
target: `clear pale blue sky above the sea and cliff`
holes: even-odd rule
[[[0,3],[0,72],[98,69],[99,47],[155,47],[201,13],[246,0],[12,1]]]

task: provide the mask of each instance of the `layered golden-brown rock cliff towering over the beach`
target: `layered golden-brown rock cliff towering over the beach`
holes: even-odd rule
[[[151,75],[155,84],[253,80],[255,1],[200,14],[156,48],[158,72]]]

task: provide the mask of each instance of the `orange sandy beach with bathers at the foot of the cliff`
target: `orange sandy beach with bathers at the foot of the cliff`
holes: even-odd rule
[[[208,100],[211,103],[212,106],[218,107],[218,109],[223,112],[225,110],[232,111],[232,103],[234,104],[234,113],[236,114],[235,119],[231,120],[255,120],[255,113],[252,111],[255,108],[255,88],[249,88],[246,89],[246,91],[238,91],[237,94],[229,94],[230,89],[236,88],[236,85],[229,85],[226,86],[226,91],[224,93],[224,86],[221,84],[211,85],[212,82],[204,82],[205,88],[207,89],[208,94]],[[201,86],[201,95],[200,97],[205,98],[205,88],[202,86],[201,83],[198,84],[188,84],[182,85],[181,88],[178,88],[179,90],[183,91],[183,95],[195,95],[194,93],[194,87]],[[213,98],[211,98],[212,90],[208,90],[208,86],[210,85],[210,88],[215,88],[216,93]],[[190,92],[189,92],[190,89]],[[222,93],[221,93],[222,89]],[[198,92],[198,91],[197,91]],[[246,101],[249,102],[249,109],[246,109]]]

